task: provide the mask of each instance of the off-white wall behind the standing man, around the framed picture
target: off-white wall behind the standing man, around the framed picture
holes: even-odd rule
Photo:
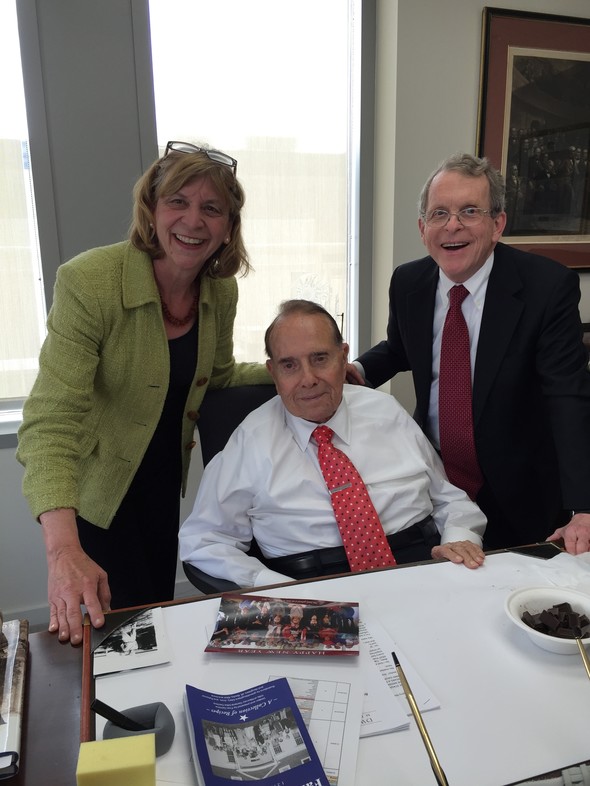
[[[385,338],[393,268],[423,256],[416,203],[439,161],[475,153],[484,0],[378,0],[373,341]],[[590,18],[588,0],[515,0],[497,8]],[[396,30],[397,17],[397,33]],[[581,272],[590,322],[590,272]],[[391,384],[410,411],[409,374]]]

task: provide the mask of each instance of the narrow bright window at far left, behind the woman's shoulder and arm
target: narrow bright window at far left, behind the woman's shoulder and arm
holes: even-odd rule
[[[28,147],[16,3],[0,3],[0,409],[35,380],[45,300]]]

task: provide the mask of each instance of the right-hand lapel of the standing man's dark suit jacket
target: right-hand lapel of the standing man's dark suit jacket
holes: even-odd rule
[[[518,297],[522,280],[510,261],[510,249],[498,244],[486,290],[481,329],[475,358],[473,419],[477,422],[485,407],[498,369],[508,351],[524,305]]]

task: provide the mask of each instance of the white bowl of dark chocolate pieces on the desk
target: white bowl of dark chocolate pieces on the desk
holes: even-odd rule
[[[561,587],[525,587],[506,598],[506,613],[537,646],[559,655],[590,645],[590,595]]]

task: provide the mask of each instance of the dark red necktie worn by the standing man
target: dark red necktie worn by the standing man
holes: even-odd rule
[[[448,478],[475,499],[483,477],[473,437],[469,331],[461,311],[468,294],[462,284],[449,292],[440,348],[438,417],[440,451]]]

